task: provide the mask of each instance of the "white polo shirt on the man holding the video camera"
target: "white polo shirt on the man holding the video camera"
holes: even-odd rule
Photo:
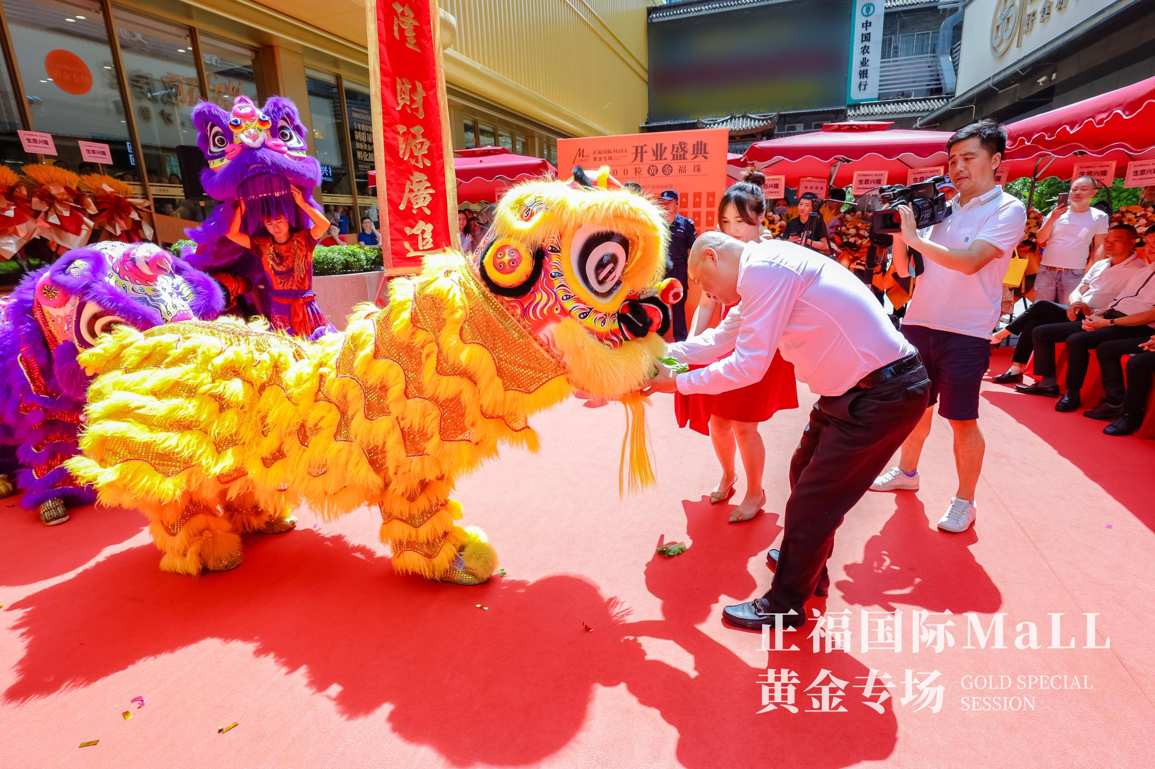
[[[968,337],[990,338],[1003,308],[1003,278],[1011,255],[1022,240],[1027,209],[1013,195],[996,184],[990,191],[959,205],[951,201],[952,214],[918,234],[945,248],[968,249],[976,240],[997,246],[1003,254],[975,274],[944,267],[923,259],[915,295],[903,325],[953,331]]]

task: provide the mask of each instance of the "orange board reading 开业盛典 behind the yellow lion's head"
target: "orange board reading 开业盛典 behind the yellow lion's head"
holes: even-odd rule
[[[715,226],[729,144],[725,128],[559,138],[558,175],[567,179],[574,166],[610,166],[614,179],[638,182],[647,195],[677,190],[678,213],[701,232]]]

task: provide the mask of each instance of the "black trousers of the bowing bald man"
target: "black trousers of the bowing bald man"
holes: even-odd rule
[[[869,390],[818,399],[790,460],[778,565],[763,596],[772,613],[797,612],[784,625],[802,626],[803,604],[820,583],[829,583],[826,561],[834,531],[915,429],[926,412],[930,389],[926,369],[919,365]]]

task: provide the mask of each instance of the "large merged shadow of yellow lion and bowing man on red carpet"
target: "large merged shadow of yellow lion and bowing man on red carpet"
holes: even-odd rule
[[[300,672],[346,718],[390,704],[385,717],[402,738],[459,766],[546,759],[579,733],[594,685],[623,683],[677,729],[686,767],[835,768],[889,755],[891,702],[882,714],[857,700],[845,702],[848,714],[806,713],[815,706],[804,688],[824,670],[850,687],[862,686],[867,670],[842,653],[812,654],[804,636],[795,639],[800,651],[773,653],[767,663],[796,671],[799,711],[755,715],[765,668],[694,625],[720,591],[745,598],[755,588],[742,553],[765,550],[777,527],[773,517],[720,526],[717,508],[703,507],[686,505],[693,546],[647,567],[647,586],[664,602],[662,621],[629,623],[616,600],[579,576],[440,586],[394,575],[370,549],[310,530],[253,537],[239,570],[200,579],[162,573],[154,548],[133,548],[10,606],[23,611],[15,629],[25,651],[2,698],[22,702],[84,687],[222,639]],[[694,655],[696,674],[647,659],[641,635],[680,644]],[[204,688],[188,696],[243,696],[245,684],[216,680],[207,668]],[[277,714],[268,722],[274,739]]]

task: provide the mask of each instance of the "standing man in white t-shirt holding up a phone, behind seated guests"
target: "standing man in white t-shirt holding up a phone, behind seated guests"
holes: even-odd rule
[[[1043,248],[1043,262],[1035,276],[1036,302],[1066,301],[1082,282],[1091,250],[1095,258],[1103,256],[1101,249],[1111,217],[1090,208],[1097,188],[1098,182],[1090,176],[1072,181],[1068,205],[1056,205],[1038,228],[1036,240]]]

